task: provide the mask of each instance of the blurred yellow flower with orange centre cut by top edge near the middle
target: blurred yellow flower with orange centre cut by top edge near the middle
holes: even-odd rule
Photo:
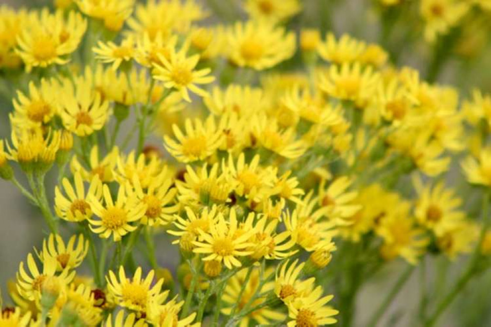
[[[301,5],[298,0],[247,0],[244,9],[253,19],[279,22],[296,15]]]

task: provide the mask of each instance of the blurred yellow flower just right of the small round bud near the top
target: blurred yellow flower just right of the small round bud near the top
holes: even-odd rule
[[[339,40],[336,40],[333,33],[328,33],[326,41],[319,45],[318,52],[322,59],[341,65],[358,60],[365,48],[364,42],[347,34],[343,34]]]

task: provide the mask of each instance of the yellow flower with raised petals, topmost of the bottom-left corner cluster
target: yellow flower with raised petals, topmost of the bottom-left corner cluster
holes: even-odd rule
[[[77,245],[75,245],[77,243]],[[58,234],[50,234],[48,241],[43,240],[43,250],[37,252],[39,259],[44,262],[44,258],[53,257],[58,261],[57,271],[65,269],[75,269],[82,264],[88,251],[88,240],[84,240],[84,235],[73,235],[68,244],[65,245],[63,239]]]

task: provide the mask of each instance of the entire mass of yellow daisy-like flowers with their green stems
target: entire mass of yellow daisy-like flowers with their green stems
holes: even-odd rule
[[[215,25],[194,0],[0,7],[0,177],[50,231],[0,325],[351,326],[361,286],[402,266],[375,327],[415,267],[469,255],[445,297],[422,291],[433,326],[490,266],[491,95],[293,30],[308,1],[232,2]],[[412,2],[432,42],[489,9],[384,0],[384,26]]]

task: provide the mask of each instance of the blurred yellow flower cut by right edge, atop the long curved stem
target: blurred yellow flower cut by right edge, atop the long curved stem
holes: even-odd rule
[[[467,157],[462,161],[462,170],[471,184],[491,186],[491,148],[482,148],[479,158]]]

